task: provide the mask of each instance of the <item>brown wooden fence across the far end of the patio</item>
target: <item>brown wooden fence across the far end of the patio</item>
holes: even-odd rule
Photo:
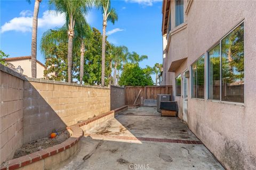
[[[125,104],[143,106],[145,99],[156,100],[158,94],[172,95],[172,86],[125,86]]]

